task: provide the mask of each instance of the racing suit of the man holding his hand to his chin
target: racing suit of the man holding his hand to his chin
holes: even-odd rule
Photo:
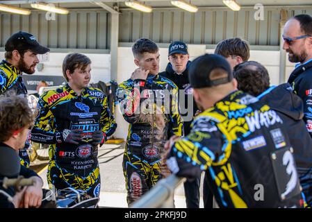
[[[123,169],[131,204],[162,178],[161,153],[168,131],[182,136],[183,122],[178,89],[162,76],[126,80],[119,85],[117,96],[124,119],[130,123]]]

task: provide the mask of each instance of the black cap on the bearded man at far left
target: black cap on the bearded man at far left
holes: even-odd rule
[[[25,32],[11,35],[11,37],[8,38],[8,41],[6,41],[4,49],[6,49],[6,51],[24,51],[29,49],[37,54],[45,54],[50,51],[49,48],[40,45],[35,36]]]

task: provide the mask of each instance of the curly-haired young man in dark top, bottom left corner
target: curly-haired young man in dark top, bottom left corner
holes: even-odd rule
[[[33,112],[26,99],[19,96],[0,98],[0,190],[13,197],[13,202],[0,193],[0,208],[40,207],[43,181],[31,169],[19,163],[18,151],[24,147],[33,126]],[[3,178],[31,178],[33,185],[16,191],[13,187],[4,188]]]

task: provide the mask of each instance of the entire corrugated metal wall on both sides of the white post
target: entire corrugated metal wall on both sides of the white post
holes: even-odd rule
[[[120,14],[119,42],[148,37],[159,43],[182,40],[188,44],[217,44],[229,37],[242,37],[251,45],[279,45],[280,9],[265,9],[264,20],[254,19],[255,10],[200,9],[193,14],[183,10],[154,10],[142,13],[123,10]],[[288,17],[312,10],[288,10]],[[69,15],[45,19],[46,13],[30,16],[0,13],[0,47],[12,33],[33,33],[39,42],[57,49],[110,49],[110,15],[105,10],[72,10]]]

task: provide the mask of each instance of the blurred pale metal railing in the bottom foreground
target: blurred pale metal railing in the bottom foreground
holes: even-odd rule
[[[174,208],[174,189],[186,178],[179,178],[174,174],[159,180],[156,185],[136,200],[130,208]]]

